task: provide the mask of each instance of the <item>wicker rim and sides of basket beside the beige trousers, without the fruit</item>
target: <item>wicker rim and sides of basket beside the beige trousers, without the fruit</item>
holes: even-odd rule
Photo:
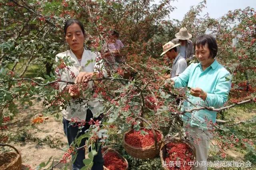
[[[161,158],[162,165],[163,165],[164,159],[166,157],[166,144],[168,144],[170,142],[187,144],[192,150],[192,154],[194,156],[194,162],[196,161],[196,148],[192,144],[190,144],[190,142],[188,142],[187,140],[184,140],[184,139],[180,139],[180,138],[168,138],[168,139],[164,140],[164,142],[162,142],[162,145],[160,148],[160,158]],[[190,170],[192,170],[193,168],[194,168],[194,164]],[[169,168],[166,166],[163,166],[163,169],[169,170]]]

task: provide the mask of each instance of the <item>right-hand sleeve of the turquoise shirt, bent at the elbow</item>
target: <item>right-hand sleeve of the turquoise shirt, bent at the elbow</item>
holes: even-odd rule
[[[214,93],[207,93],[206,103],[214,108],[219,108],[228,100],[231,89],[231,75],[229,72],[222,73],[216,83]]]

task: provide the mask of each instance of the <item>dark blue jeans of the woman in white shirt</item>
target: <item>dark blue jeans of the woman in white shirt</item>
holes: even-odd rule
[[[102,116],[103,116],[103,114],[100,115],[97,118],[94,118],[94,121],[101,120]],[[92,117],[93,117],[92,111],[90,109],[87,109],[86,122],[89,122]],[[63,127],[64,127],[64,133],[66,134],[66,136],[68,138],[68,144],[69,145],[75,140],[76,137],[81,136],[82,134],[84,134],[85,130],[90,128],[90,125],[86,124],[82,128],[82,132],[80,132],[78,134],[79,129],[78,129],[77,126],[76,127],[72,127],[72,125],[68,126],[70,121],[68,121],[65,118],[63,118],[62,123],[63,123]],[[83,138],[79,147],[84,146],[87,139],[88,138]],[[93,166],[92,166],[91,170],[103,170],[103,162],[104,162],[104,160],[102,158],[101,145],[98,147],[97,143],[95,143],[95,148],[96,148],[96,151],[98,152],[98,154],[95,155],[94,158],[93,158]],[[97,148],[98,148],[98,150],[97,150]],[[91,151],[91,148],[89,148],[89,152],[90,151]],[[83,148],[83,149],[80,149],[80,150],[77,151],[76,160],[74,161],[74,163],[72,165],[73,170],[80,170],[84,166],[84,163],[83,163],[84,159],[85,159],[85,150]]]

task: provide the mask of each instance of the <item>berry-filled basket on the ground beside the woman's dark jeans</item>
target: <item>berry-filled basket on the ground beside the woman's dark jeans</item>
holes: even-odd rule
[[[127,160],[114,148],[108,148],[103,153],[104,170],[128,170]]]

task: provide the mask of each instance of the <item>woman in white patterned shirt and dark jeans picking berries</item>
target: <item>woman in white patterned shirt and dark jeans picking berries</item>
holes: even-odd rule
[[[73,81],[76,85],[82,85],[84,82],[88,81],[90,77],[95,75],[96,72],[99,73],[99,68],[101,67],[102,60],[98,61],[96,59],[99,57],[99,53],[92,52],[84,49],[85,31],[82,23],[79,20],[71,19],[66,21],[64,26],[64,35],[66,42],[68,43],[70,50],[56,55],[56,61],[64,57],[70,57],[70,62],[73,62],[73,66],[69,66],[69,69],[65,68],[61,75],[61,80],[63,81]],[[98,62],[96,62],[96,60]],[[89,61],[89,64],[88,64]],[[68,91],[72,97],[77,97],[78,94],[72,93],[72,88],[74,85],[67,85],[64,82],[60,82],[60,90]],[[93,85],[92,81],[88,82],[88,88]],[[88,107],[93,107],[93,109],[87,109]],[[99,113],[100,103],[89,101],[86,104],[73,104],[68,106],[66,109],[62,110],[63,114],[63,125],[64,133],[68,138],[68,144],[72,144],[76,137],[84,134],[84,131],[90,127],[88,123],[82,128],[82,132],[78,133],[80,129],[78,126],[69,126],[71,119],[86,120],[89,122],[93,115]],[[100,120],[100,116],[93,118],[94,121]],[[82,140],[80,146],[85,144],[86,139]],[[101,153],[101,146],[98,148],[98,154],[94,156],[92,170],[103,170],[103,158]],[[90,150],[90,148],[89,148]],[[73,156],[74,158],[75,156]],[[76,160],[74,161],[72,167],[73,170],[79,170],[84,166],[83,160],[85,159],[84,149],[77,151]]]

